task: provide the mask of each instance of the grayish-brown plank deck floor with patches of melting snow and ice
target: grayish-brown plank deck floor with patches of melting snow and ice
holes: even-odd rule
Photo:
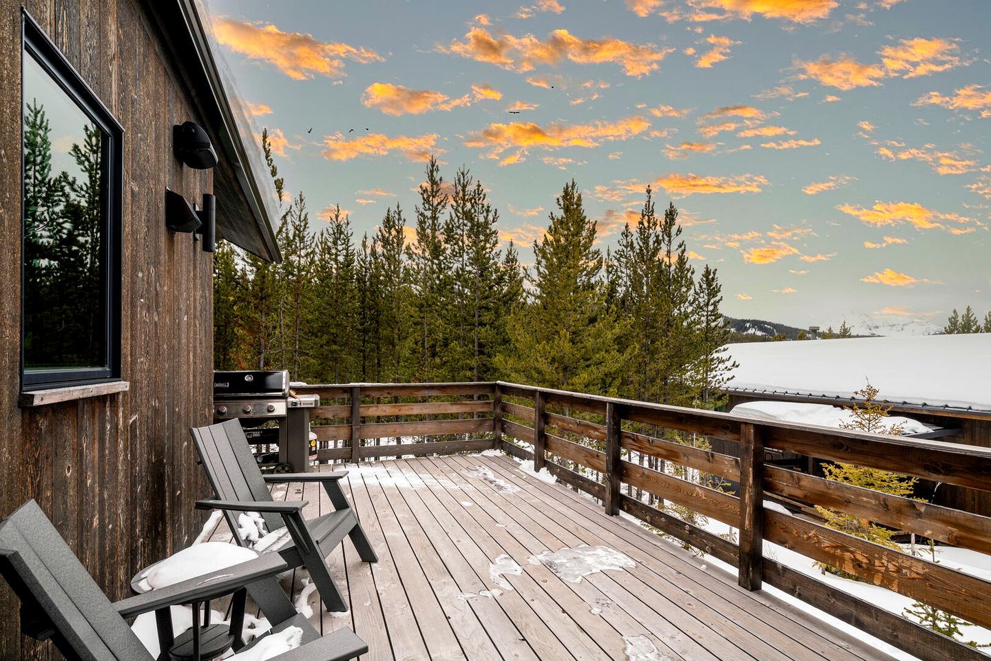
[[[484,467],[509,489],[478,475]],[[374,661],[529,659],[567,661],[859,661],[890,657],[793,606],[748,593],[734,576],[560,485],[543,483],[506,456],[448,456],[350,466],[345,492],[380,562],[362,563],[350,540],[330,558],[351,610],[312,620],[327,633],[350,626]],[[513,490],[515,488],[515,490]],[[319,485],[289,484],[276,497],[330,506]],[[226,533],[226,534],[225,534]],[[229,538],[226,526],[213,539]],[[603,545],[636,566],[560,579],[530,556]],[[497,588],[492,562],[522,569]],[[293,577],[293,599],[300,581]],[[627,655],[644,637],[658,654]],[[649,645],[647,650],[649,650]]]

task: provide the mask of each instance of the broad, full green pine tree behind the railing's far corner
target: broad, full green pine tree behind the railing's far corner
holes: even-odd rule
[[[509,351],[497,366],[510,381],[611,394],[625,369],[617,347],[622,328],[606,307],[596,223],[574,180],[557,208],[534,245],[531,301],[512,315]]]

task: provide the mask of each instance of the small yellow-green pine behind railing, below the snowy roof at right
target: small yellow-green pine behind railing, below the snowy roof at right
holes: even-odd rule
[[[887,418],[889,417],[891,406],[885,406],[877,401],[878,389],[876,387],[871,386],[868,382],[866,386],[860,390],[856,390],[854,394],[862,399],[863,403],[843,406],[843,410],[850,413],[850,421],[841,423],[840,427],[875,434],[899,435],[902,433],[903,425],[888,423]],[[912,496],[917,482],[916,478],[892,473],[891,471],[882,471],[876,468],[855,466],[853,464],[824,464],[823,472],[826,475],[826,480],[841,482],[847,485],[853,485],[854,487],[870,489],[894,496]],[[816,509],[826,519],[826,525],[830,528],[901,551],[901,547],[892,540],[892,531],[884,526],[852,514],[836,512],[820,505],[816,505]],[[839,574],[845,578],[857,578],[823,563],[817,564],[824,571]]]

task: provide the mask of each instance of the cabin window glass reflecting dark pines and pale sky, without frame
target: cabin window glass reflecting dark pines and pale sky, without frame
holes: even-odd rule
[[[24,368],[107,367],[103,133],[24,63]]]

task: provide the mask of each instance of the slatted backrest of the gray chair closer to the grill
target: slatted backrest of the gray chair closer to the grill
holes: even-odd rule
[[[221,500],[271,502],[272,494],[262,479],[262,471],[251,452],[241,421],[237,418],[189,430],[206,477]],[[237,513],[225,512],[237,537]],[[262,514],[272,532],[282,526],[278,514]],[[240,539],[239,539],[240,541]]]

